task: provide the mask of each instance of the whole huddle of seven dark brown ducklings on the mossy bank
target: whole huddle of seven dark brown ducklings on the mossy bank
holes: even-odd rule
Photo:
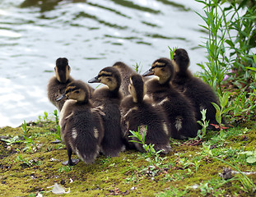
[[[93,89],[73,80],[67,58],[58,58],[55,76],[49,80],[48,97],[60,111],[61,135],[67,146],[67,162],[72,153],[85,163],[93,163],[99,153],[116,157],[123,149],[143,151],[129,131],[145,135],[146,144],[168,153],[170,137],[186,139],[198,133],[202,109],[207,120],[217,124],[218,98],[212,88],[189,71],[189,55],[183,48],[174,58],[159,58],[142,77],[123,62],[103,68],[88,83],[105,86]],[[131,142],[131,140],[133,142]]]

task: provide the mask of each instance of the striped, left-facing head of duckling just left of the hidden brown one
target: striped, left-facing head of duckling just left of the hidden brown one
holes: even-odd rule
[[[98,76],[95,76],[88,83],[101,83],[109,87],[110,91],[119,91],[121,76],[119,70],[113,66],[102,69]]]

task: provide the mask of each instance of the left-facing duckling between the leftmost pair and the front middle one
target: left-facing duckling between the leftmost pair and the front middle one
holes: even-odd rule
[[[95,89],[92,101],[95,107],[100,108],[105,113],[105,116],[102,116],[105,135],[101,143],[101,152],[106,156],[117,157],[124,148],[119,110],[123,98],[123,94],[119,91],[120,73],[115,67],[108,66],[88,82],[105,84],[104,87]]]

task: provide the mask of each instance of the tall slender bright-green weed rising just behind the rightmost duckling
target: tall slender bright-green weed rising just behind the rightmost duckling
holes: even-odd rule
[[[201,73],[202,79],[212,86],[213,89],[222,95],[221,82],[226,75],[226,71],[229,67],[229,62],[225,54],[225,37],[226,30],[222,30],[223,20],[226,18],[227,14],[222,10],[219,2],[217,0],[196,0],[204,4],[204,14],[198,14],[206,25],[200,25],[204,30],[207,30],[208,37],[205,45],[201,45],[203,48],[207,49],[207,59],[208,62],[203,64],[198,64],[204,71]],[[221,10],[221,13],[219,11]]]

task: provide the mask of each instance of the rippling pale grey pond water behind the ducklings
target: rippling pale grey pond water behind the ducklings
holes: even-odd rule
[[[89,80],[122,61],[146,71],[168,46],[185,48],[190,69],[205,61],[205,34],[194,0],[1,0],[0,126],[19,126],[54,112],[46,93],[58,57],[72,77]]]

